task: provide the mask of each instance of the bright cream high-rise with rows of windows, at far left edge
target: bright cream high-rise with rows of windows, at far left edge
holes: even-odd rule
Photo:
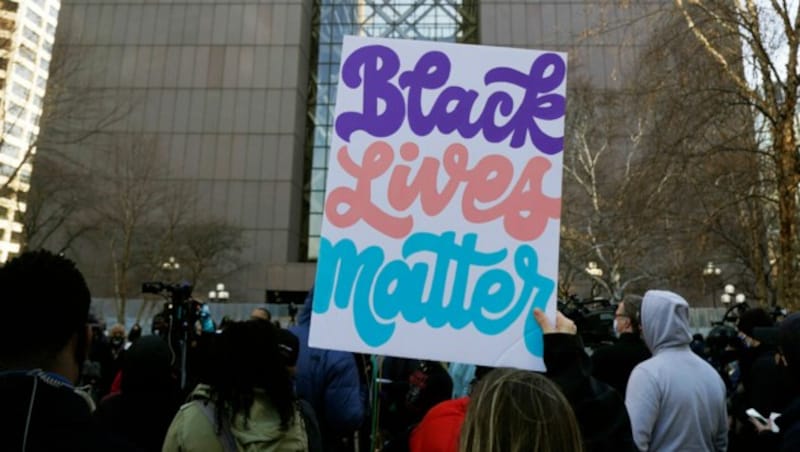
[[[19,252],[60,0],[5,0],[0,8],[0,262]]]

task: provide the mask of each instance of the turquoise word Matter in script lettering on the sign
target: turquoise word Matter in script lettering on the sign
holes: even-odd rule
[[[409,263],[420,255],[430,257],[431,264]],[[525,316],[525,347],[542,356],[541,331],[532,311],[545,308],[555,282],[539,273],[538,255],[531,246],[516,248],[513,273],[497,267],[507,258],[505,249],[478,250],[475,234],[464,235],[458,243],[453,231],[411,234],[403,244],[402,259],[388,262],[378,246],[359,251],[350,239],[334,244],[323,237],[313,310],[324,314],[331,302],[337,309],[351,309],[358,336],[371,347],[392,338],[400,316],[409,323],[424,321],[431,328],[449,325],[460,330],[472,325],[490,336]],[[447,284],[451,268],[454,282]],[[467,293],[470,273],[477,279]]]

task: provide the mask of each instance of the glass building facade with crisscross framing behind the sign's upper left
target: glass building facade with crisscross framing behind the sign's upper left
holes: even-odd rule
[[[381,38],[424,39],[447,42],[477,42],[477,15],[474,0],[319,0],[314,5],[317,49],[316,90],[310,99],[312,119],[308,144],[310,164],[306,201],[308,209],[307,257],[317,258],[325,176],[328,167],[330,136],[333,128],[336,85],[338,83],[342,40],[346,35]],[[312,62],[313,64],[314,62]]]

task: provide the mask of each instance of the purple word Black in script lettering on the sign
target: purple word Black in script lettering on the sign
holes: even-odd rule
[[[410,129],[420,137],[437,129],[445,134],[458,132],[465,139],[482,133],[490,143],[510,137],[510,146],[515,149],[525,146],[530,138],[547,155],[564,149],[563,135],[550,136],[537,124],[537,120],[564,117],[566,100],[555,91],[566,77],[566,63],[557,54],[540,54],[527,74],[508,67],[487,71],[484,91],[496,90],[484,95],[485,99],[476,90],[447,86],[451,62],[444,52],[427,52],[413,69],[400,69],[399,56],[382,45],[361,47],[347,57],[342,64],[342,83],[353,90],[360,88],[362,99],[360,111],[342,112],[336,118],[335,130],[340,138],[350,142],[356,131],[388,137],[408,120]],[[515,102],[507,93],[509,87],[524,91],[521,101]],[[422,107],[426,94],[436,96],[427,113]],[[382,112],[381,106],[385,106]],[[498,117],[507,122],[497,124]]]

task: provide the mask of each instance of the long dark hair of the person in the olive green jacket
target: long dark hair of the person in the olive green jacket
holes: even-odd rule
[[[295,413],[294,390],[275,327],[260,320],[230,323],[219,335],[214,358],[211,395],[218,425],[226,416],[232,419],[237,414],[246,425],[256,390],[260,390],[280,415],[281,429],[289,427]]]

